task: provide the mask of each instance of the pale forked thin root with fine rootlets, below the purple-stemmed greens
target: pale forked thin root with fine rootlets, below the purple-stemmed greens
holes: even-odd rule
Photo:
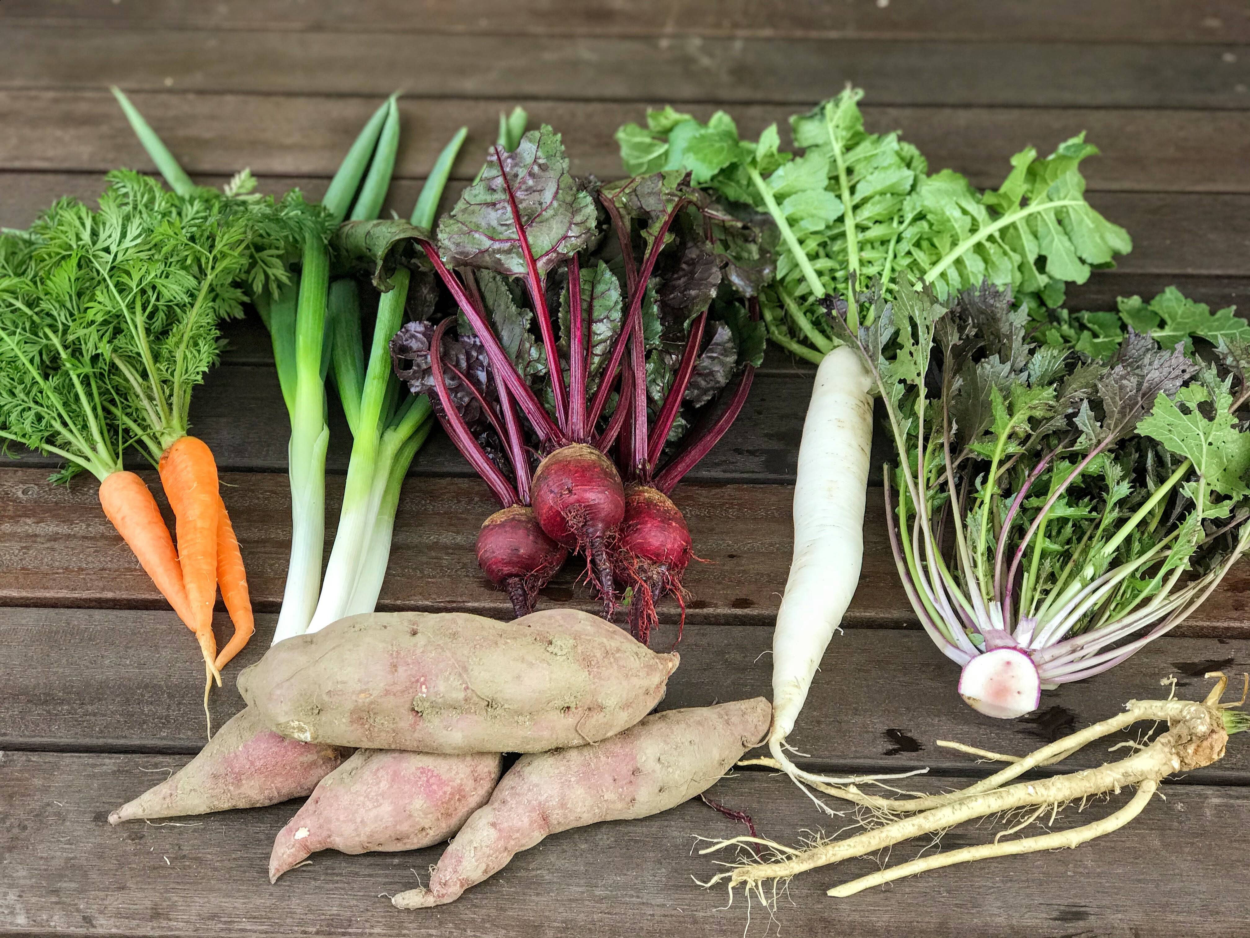
[[[1022,759],[1000,757],[996,753],[986,753],[972,747],[951,745],[950,748],[971,752],[981,758],[1011,759],[1011,764],[1008,768],[959,792],[932,795],[916,794],[906,798],[882,798],[865,794],[855,785],[815,785],[826,794],[845,798],[861,805],[878,819],[889,820],[889,823],[842,839],[809,843],[800,849],[754,837],[735,837],[720,840],[700,850],[700,853],[714,853],[726,847],[742,848],[744,853],[739,855],[739,863],[732,865],[731,869],[712,877],[709,882],[702,883],[702,885],[724,883],[728,884],[731,894],[735,887],[742,887],[748,893],[754,893],[768,904],[770,899],[765,892],[765,883],[771,882],[772,888],[769,892],[775,893],[779,882],[784,882],[798,873],[839,863],[852,857],[864,857],[878,850],[889,849],[894,844],[912,837],[936,835],[966,820],[999,814],[1010,817],[1012,812],[1019,813],[1021,809],[1030,808],[1035,810],[1029,812],[1026,820],[1021,820],[1009,830],[999,834],[994,843],[924,855],[909,863],[901,863],[896,867],[881,869],[871,875],[844,883],[842,885],[836,885],[829,889],[828,894],[836,897],[852,895],[861,889],[929,869],[939,869],[979,859],[991,859],[994,857],[1078,847],[1095,837],[1109,834],[1138,817],[1150,803],[1159,784],[1168,775],[1210,765],[1224,755],[1224,745],[1230,733],[1250,728],[1250,717],[1240,710],[1231,709],[1245,703],[1245,694],[1242,694],[1240,703],[1221,704],[1220,697],[1224,693],[1228,679],[1219,672],[1208,677],[1218,677],[1219,682],[1202,702],[1176,699],[1131,700],[1125,712],[1118,717],[1102,720],[1079,733],[1042,747]],[[1250,689],[1250,677],[1246,678],[1246,687]],[[1034,782],[1019,782],[1004,787],[1005,783],[1029,769],[1065,759],[1078,749],[1141,720],[1166,723],[1168,730],[1160,733],[1149,744],[1136,748],[1131,755],[1119,762],[1106,763],[1096,769],[1084,769],[1066,775],[1054,775]],[[749,759],[739,764],[769,765],[771,763],[771,759]],[[1015,833],[1032,823],[1048,809],[1054,815],[1061,805],[1069,802],[1084,802],[1098,795],[1115,794],[1121,788],[1130,785],[1136,785],[1138,790],[1129,803],[1101,820],[1038,837],[1025,837],[1014,840],[1004,839],[1005,835]],[[755,847],[764,848],[769,853],[770,859],[762,862],[758,859],[748,860],[748,855],[754,857]]]

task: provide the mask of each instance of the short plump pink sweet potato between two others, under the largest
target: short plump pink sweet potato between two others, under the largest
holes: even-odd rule
[[[499,753],[360,749],[279,832],[269,882],[318,850],[418,850],[446,840],[490,798],[501,762]]]

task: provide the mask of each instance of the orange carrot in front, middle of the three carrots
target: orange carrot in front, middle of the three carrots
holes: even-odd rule
[[[181,436],[160,458],[160,480],[174,509],[178,555],[182,567],[191,629],[200,642],[204,662],[218,683],[218,642],[212,635],[212,604],[218,597],[218,464],[208,445],[195,436]]]

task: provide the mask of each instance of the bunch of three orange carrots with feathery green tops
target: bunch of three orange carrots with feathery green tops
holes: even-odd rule
[[[29,231],[0,238],[0,438],[100,480],[109,520],[195,634],[209,680],[248,643],[254,622],[239,542],[216,463],[188,434],[191,390],[216,363],[218,324],[246,291],[276,290],[302,240],[325,236],[298,193],[175,194],[135,173],[109,175],[98,210],[62,199]],[[134,448],[160,470],[174,538]],[[234,623],[218,649],[218,588]]]

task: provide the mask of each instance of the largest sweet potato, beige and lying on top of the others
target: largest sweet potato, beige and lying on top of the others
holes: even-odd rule
[[[372,613],[279,642],[239,690],[270,728],[305,743],[534,753],[634,725],[678,660],[576,609],[512,622]]]

